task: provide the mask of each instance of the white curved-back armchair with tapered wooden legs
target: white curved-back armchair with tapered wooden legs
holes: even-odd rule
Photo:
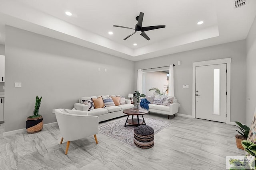
[[[94,135],[95,142],[98,144],[96,134],[99,132],[99,118],[87,114],[87,111],[55,109],[60,134],[62,135],[60,144],[62,144],[63,139],[68,141],[65,154],[68,154],[70,141]]]

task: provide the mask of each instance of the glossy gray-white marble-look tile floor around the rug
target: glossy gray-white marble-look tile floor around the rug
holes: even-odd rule
[[[147,117],[168,120],[154,113]],[[132,148],[99,133],[98,145],[93,136],[71,141],[67,155],[58,126],[3,137],[1,124],[0,170],[224,170],[226,156],[244,155],[236,148],[233,125],[180,116],[168,121],[151,149]]]

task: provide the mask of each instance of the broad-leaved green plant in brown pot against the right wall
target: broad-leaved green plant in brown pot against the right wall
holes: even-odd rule
[[[235,123],[238,125],[236,127],[238,127],[241,130],[241,132],[236,130],[240,134],[240,135],[236,135],[236,147],[239,149],[244,149],[241,142],[244,140],[247,140],[250,128],[247,125],[243,125],[238,121],[235,121]]]

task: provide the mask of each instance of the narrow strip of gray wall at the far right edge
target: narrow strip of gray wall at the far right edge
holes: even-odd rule
[[[250,125],[256,107],[256,18],[247,35],[246,51],[246,124]]]

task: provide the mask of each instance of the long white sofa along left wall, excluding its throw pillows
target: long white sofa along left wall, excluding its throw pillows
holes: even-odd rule
[[[102,96],[103,98],[109,98],[110,96],[119,96],[119,95],[104,95]],[[109,119],[113,119],[116,117],[121,117],[126,114],[123,113],[124,109],[131,109],[134,107],[133,104],[131,104],[131,101],[126,99],[125,102],[126,104],[122,104],[119,106],[109,106],[109,107],[104,107],[104,108],[97,108],[97,109],[92,109],[88,111],[88,106],[86,104],[83,104],[82,100],[90,100],[95,99],[100,96],[88,96],[88,97],[82,97],[79,99],[79,103],[74,104],[74,109],[75,110],[81,110],[81,111],[87,111],[88,115],[92,116],[98,116],[99,117],[99,122],[101,121],[106,121]]]

